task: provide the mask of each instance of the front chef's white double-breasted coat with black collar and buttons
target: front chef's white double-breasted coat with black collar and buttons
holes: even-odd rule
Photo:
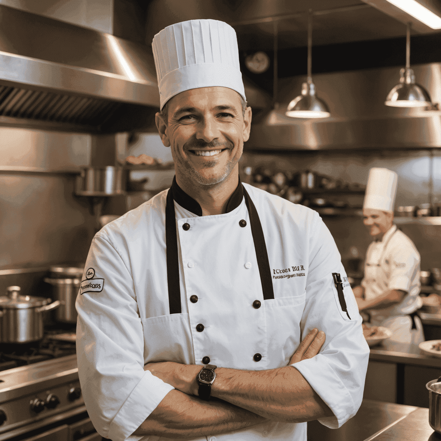
[[[165,440],[131,435],[173,389],[144,371],[145,363],[278,368],[314,327],[325,332],[325,344],[295,367],[334,413],[321,423],[341,426],[361,404],[369,348],[340,254],[318,213],[239,182],[227,213],[202,217],[176,181],[172,190],[178,299],[168,295],[167,190],[107,224],[90,247],[76,302],[77,356],[98,433],[113,441]],[[244,194],[258,221],[250,219]],[[263,275],[257,223],[269,262]],[[334,283],[337,274],[341,284]],[[265,438],[306,440],[306,422],[269,421],[194,439]]]

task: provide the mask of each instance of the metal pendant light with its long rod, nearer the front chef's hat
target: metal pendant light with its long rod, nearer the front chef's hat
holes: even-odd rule
[[[329,108],[325,101],[315,95],[315,86],[311,77],[312,70],[312,11],[308,12],[308,78],[302,84],[302,94],[294,98],[285,112],[292,118],[327,118]]]

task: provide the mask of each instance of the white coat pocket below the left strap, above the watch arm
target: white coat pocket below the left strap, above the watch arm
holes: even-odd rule
[[[144,364],[160,361],[194,364],[188,314],[143,318],[141,322]]]

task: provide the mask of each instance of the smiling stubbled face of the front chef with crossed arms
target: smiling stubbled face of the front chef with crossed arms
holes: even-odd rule
[[[156,114],[164,146],[172,149],[176,179],[215,185],[237,167],[250,135],[251,108],[242,114],[240,95],[227,87],[201,87],[172,97],[168,121]]]

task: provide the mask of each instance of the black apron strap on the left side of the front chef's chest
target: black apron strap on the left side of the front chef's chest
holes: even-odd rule
[[[181,290],[179,288],[178,239],[173,190],[170,187],[165,205],[165,245],[167,250],[167,284],[170,314],[181,313]]]

